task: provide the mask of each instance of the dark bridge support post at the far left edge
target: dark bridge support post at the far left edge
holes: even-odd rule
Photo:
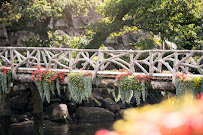
[[[10,96],[4,93],[0,101],[0,124],[1,135],[11,134],[11,109],[10,109]]]

